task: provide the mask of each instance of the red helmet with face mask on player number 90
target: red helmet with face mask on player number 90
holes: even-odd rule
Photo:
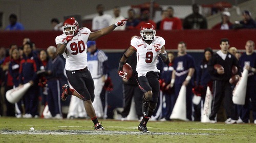
[[[70,28],[70,30],[67,30],[67,28]],[[74,17],[70,17],[63,23],[62,31],[64,35],[75,35],[78,32],[78,22]]]

